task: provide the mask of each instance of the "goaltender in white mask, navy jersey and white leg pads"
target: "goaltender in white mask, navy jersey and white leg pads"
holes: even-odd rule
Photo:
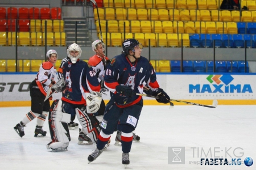
[[[66,150],[69,141],[68,122],[74,115],[77,116],[82,130],[89,135],[93,142],[97,141],[100,126],[91,113],[96,113],[101,104],[100,84],[92,67],[80,60],[82,50],[79,45],[68,46],[68,62],[63,65],[63,78],[65,80],[65,94],[62,101],[55,101],[51,114],[52,142],[47,148],[53,151]]]

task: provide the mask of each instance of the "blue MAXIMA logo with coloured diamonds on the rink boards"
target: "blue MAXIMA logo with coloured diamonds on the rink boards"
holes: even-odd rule
[[[189,93],[252,93],[250,84],[232,84],[231,75],[209,75],[208,84],[189,84]]]

